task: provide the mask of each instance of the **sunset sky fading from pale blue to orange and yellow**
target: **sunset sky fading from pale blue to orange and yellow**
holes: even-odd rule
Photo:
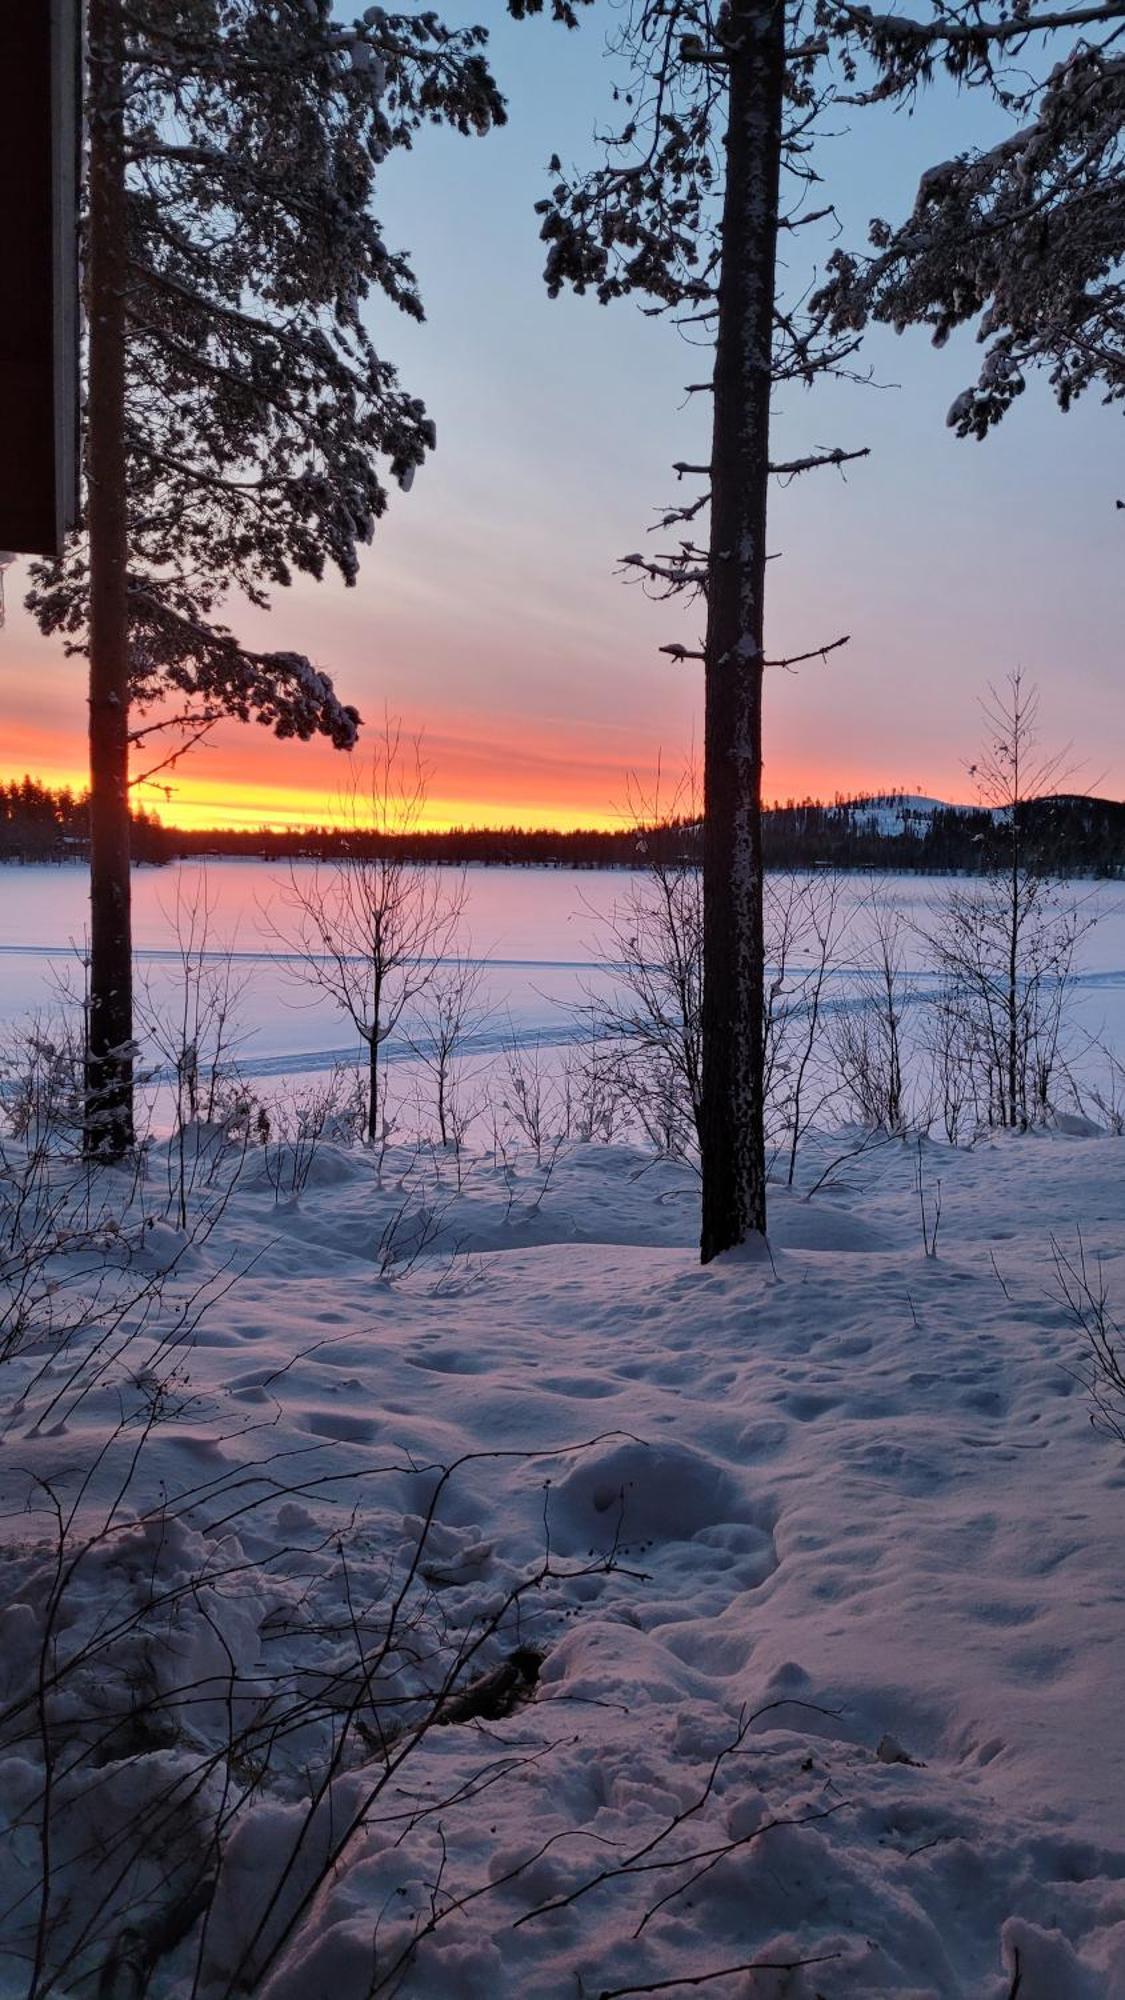
[[[500,16],[452,0],[446,18]],[[418,136],[384,170],[384,238],[408,248],[426,324],[372,310],[380,350],[436,420],[438,450],[392,492],[360,582],[300,580],[268,614],[228,608],[256,646],[308,652],[370,720],[422,732],[432,824],[599,824],[683,770],[703,730],[701,608],[653,604],[615,560],[659,546],[683,498],[671,464],[707,452],[707,354],[631,302],[548,300],[534,200],[546,160],[597,158],[613,68],[599,0],[577,34],[492,24],[510,122],[484,140]],[[843,236],[897,220],[935,160],[999,136],[995,110],[939,84],[919,108],[835,120],[819,168]],[[985,442],[945,428],[975,376],[959,338],[875,330],[873,384],[825,382],[777,408],[775,454],[871,446],[871,458],[775,492],[767,644],[825,664],[767,686],[769,798],[903,788],[971,796],[979,696],[1015,668],[1039,684],[1043,738],[1073,744],[1083,786],[1125,796],[1121,414],[1061,416],[1035,382]],[[36,634],[8,572],[0,632],[0,776],[82,780],[80,660]],[[362,744],[356,756],[362,756]],[[320,820],[340,754],[228,724],[144,802],[174,824]],[[665,776],[667,792],[667,776]]]

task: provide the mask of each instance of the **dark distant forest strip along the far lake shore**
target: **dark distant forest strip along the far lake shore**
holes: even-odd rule
[[[1019,808],[1021,832],[1051,874],[1125,876],[1125,802],[1061,794]],[[132,816],[134,860],[162,866],[188,856],[240,860],[330,860],[394,846],[406,860],[490,868],[637,868],[655,858],[697,860],[701,826],[671,820],[615,832],[526,832],[518,826],[456,826],[442,834],[356,834],[352,828],[196,830]],[[915,874],[981,874],[1007,842],[987,810],[919,806],[905,794],[787,800],[765,814],[767,868],[871,868]],[[0,784],[0,860],[84,860],[86,798],[34,778]]]

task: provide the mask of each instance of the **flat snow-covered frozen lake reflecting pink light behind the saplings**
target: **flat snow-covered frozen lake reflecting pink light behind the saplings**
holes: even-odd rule
[[[308,878],[310,864],[296,864]],[[456,870],[446,872],[450,882]],[[577,1010],[613,982],[607,922],[643,878],[629,872],[565,868],[470,868],[458,950],[480,960],[478,1008],[486,1012],[472,1046],[480,1056],[510,1040],[558,1044],[573,1036]],[[871,894],[873,876],[845,880],[841,950],[829,980],[829,1004],[847,1006],[863,970],[861,922],[849,924]],[[901,942],[921,1004],[935,990],[927,970],[925,928],[949,894],[937,876],[879,878],[901,918]],[[208,906],[206,954],[232,956],[238,998],[238,1064],[248,1078],[308,1076],[358,1056],[356,1036],[332,1002],[314,992],[270,930],[280,920],[286,870],[264,862],[180,862],[134,872],[134,944],[138,984],[152,1004],[170,1004],[176,988],[176,910]],[[965,882],[961,882],[965,886]],[[1125,886],[1073,882],[1063,902],[1077,902],[1095,924],[1079,946],[1073,1020],[1083,1036],[1107,1040],[1125,1056]],[[180,916],[182,922],[182,916]],[[58,1006],[60,990],[82,990],[86,872],[0,866],[0,1022]],[[851,928],[851,936],[849,936]],[[386,1056],[408,1056],[402,1036]]]

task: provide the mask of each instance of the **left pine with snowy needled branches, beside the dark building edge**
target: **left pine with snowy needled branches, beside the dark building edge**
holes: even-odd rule
[[[88,532],[28,602],[90,654],[92,1152],[132,1142],[130,748],[220,716],[356,740],[326,674],[222,612],[296,572],[354,584],[434,444],[364,318],[422,316],[370,200],[422,124],[502,122],[482,44],[428,10],[90,0]]]

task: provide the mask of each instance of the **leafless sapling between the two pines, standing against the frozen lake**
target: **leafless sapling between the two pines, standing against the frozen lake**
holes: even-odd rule
[[[454,948],[464,874],[406,860],[426,808],[420,738],[384,716],[364,770],[342,794],[342,852],[290,866],[266,912],[296,976],[350,1020],[366,1056],[368,1146],[380,1142],[384,1044]]]

